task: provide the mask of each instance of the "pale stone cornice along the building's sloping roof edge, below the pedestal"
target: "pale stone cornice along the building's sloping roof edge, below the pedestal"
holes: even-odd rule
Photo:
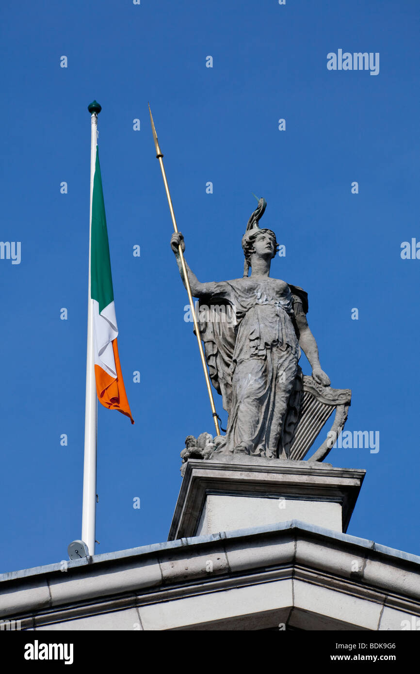
[[[3,574],[0,617],[36,630],[133,609],[141,623],[153,605],[278,582],[347,595],[377,605],[379,615],[385,607],[420,615],[420,557],[295,520],[95,555],[62,568]]]

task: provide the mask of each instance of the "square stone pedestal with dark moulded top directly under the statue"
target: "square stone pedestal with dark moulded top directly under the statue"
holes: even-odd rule
[[[291,520],[346,532],[364,477],[318,462],[189,459],[169,541]]]

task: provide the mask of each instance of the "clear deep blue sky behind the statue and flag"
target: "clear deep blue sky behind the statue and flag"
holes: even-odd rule
[[[212,432],[150,100],[191,268],[241,276],[251,192],[264,196],[262,223],[286,246],[271,275],[309,294],[322,367],[353,390],[346,428],[380,432],[376,454],[328,457],[367,470],[348,532],[420,554],[420,260],[400,256],[420,240],[417,1],[23,0],[1,13],[0,239],[22,259],[0,259],[0,571],[67,559],[81,534],[93,98],[136,420],[98,410],[96,552],[167,539],[185,437]],[[380,53],[379,74],[329,71],[338,49]]]

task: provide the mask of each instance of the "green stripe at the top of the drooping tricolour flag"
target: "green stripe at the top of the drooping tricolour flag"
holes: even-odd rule
[[[92,194],[92,229],[90,243],[90,297],[99,304],[99,313],[114,299],[104,194],[100,178],[99,154],[96,147],[95,175]]]

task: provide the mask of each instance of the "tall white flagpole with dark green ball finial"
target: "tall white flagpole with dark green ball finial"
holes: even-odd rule
[[[98,113],[101,107],[94,100],[88,106],[91,115],[90,139],[90,218],[89,218],[89,281],[88,281],[88,348],[86,354],[86,408],[84,421],[84,469],[83,469],[83,507],[82,541],[88,546],[90,555],[95,553],[96,524],[96,445],[98,398],[94,371],[94,333],[93,300],[90,297],[90,248],[92,234],[92,195],[96,163]]]

